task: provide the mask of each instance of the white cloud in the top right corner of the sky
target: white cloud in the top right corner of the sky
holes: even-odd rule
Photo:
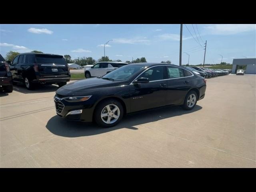
[[[209,34],[232,35],[247,31],[256,31],[256,24],[213,24],[204,28]]]

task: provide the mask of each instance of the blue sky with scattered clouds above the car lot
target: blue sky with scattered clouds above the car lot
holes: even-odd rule
[[[105,48],[106,56],[112,60],[146,57],[148,62],[179,64],[179,24],[0,24],[0,54],[4,57],[10,50],[40,50],[97,60],[104,56],[102,45],[108,40],[113,41]],[[228,63],[233,58],[256,57],[255,24],[183,25],[182,52],[190,54],[189,64],[203,63],[205,40],[206,64],[220,63],[219,54]],[[182,64],[187,63],[188,55],[182,53]]]

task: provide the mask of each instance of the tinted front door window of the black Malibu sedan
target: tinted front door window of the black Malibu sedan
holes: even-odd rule
[[[149,78],[149,81],[162,80],[164,79],[164,66],[152,67],[141,74],[138,78],[141,77]]]

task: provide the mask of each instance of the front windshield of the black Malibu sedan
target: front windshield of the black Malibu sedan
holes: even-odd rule
[[[133,65],[133,64],[122,66],[122,67],[102,76],[102,79],[109,79],[109,80],[113,80],[113,81],[128,80],[131,76],[136,74],[136,72],[140,71],[142,68],[145,68],[145,66]]]

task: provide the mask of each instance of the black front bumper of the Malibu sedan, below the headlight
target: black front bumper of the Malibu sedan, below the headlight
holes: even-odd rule
[[[93,108],[92,105],[84,102],[67,102],[62,98],[54,98],[56,113],[58,116],[72,121],[92,122]],[[80,114],[68,114],[71,111],[82,110]]]

